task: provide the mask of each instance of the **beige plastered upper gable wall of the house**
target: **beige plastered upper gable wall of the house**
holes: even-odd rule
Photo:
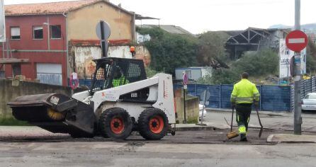
[[[114,8],[104,1],[67,14],[68,39],[98,40],[96,24],[100,21],[110,24],[109,40],[132,40],[132,14]]]

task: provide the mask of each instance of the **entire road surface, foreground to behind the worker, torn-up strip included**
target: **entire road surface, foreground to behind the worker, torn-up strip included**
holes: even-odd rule
[[[227,128],[223,117],[208,113],[206,122]],[[256,115],[251,124],[256,127]],[[227,139],[229,129],[178,131],[159,141],[133,132],[126,140],[103,137],[73,139],[39,127],[0,127],[0,166],[316,166],[316,144],[271,144],[269,134],[293,133],[290,114],[262,113],[264,129],[249,129],[249,142]],[[303,128],[314,129],[315,115],[307,115]],[[308,119],[308,120],[307,120]],[[304,120],[303,120],[304,121]],[[315,134],[303,132],[303,134]]]

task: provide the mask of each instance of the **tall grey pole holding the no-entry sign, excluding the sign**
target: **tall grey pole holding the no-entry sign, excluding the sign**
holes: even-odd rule
[[[300,30],[300,0],[295,0],[295,30]],[[294,134],[302,134],[300,104],[300,52],[294,53]]]

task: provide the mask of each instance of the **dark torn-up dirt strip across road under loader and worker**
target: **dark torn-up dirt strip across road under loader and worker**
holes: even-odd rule
[[[23,128],[23,127],[21,127]],[[178,131],[175,136],[167,134],[161,140],[149,141],[143,139],[138,132],[132,132],[126,140],[114,140],[103,137],[79,138],[74,139],[67,134],[52,134],[43,132],[43,129],[33,129],[23,135],[17,133],[9,133],[0,135],[0,142],[123,142],[130,146],[141,146],[146,143],[166,143],[166,144],[251,144],[251,145],[270,145],[266,139],[270,134],[290,134],[292,132],[264,129],[262,137],[259,138],[259,129],[249,129],[247,139],[249,142],[239,142],[239,137],[235,139],[227,139],[226,134],[229,129],[208,129],[196,131]]]

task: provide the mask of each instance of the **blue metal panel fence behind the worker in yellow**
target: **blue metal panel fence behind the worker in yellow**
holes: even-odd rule
[[[174,85],[174,88],[181,88]],[[230,108],[230,94],[233,85],[188,85],[188,93],[201,96],[203,91],[210,92],[207,108]],[[290,86],[257,86],[260,93],[259,109],[273,112],[290,112]]]

